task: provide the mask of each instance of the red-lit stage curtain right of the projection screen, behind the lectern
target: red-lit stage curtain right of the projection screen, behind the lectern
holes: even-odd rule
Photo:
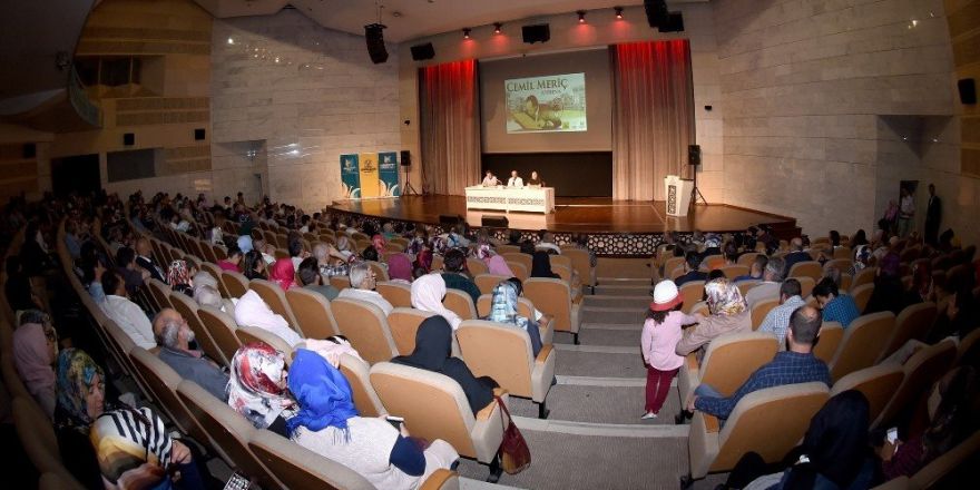
[[[682,174],[694,137],[690,47],[634,42],[610,55],[612,198],[664,200],[664,177]]]

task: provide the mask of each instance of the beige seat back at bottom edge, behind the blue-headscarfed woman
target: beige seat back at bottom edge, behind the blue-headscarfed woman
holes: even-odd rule
[[[374,489],[356,471],[267,430],[254,431],[248,449],[285,484],[283,488]]]

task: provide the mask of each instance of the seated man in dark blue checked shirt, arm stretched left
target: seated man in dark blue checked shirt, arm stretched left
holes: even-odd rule
[[[766,388],[820,381],[831,385],[831,373],[823,361],[813,355],[813,343],[820,334],[820,312],[803,306],[793,312],[786,333],[788,350],[776,353],[768,364],[757,369],[732,396],[723,396],[707,384],[700,384],[687,402],[688,410],[700,410],[725,420],[748,393]]]

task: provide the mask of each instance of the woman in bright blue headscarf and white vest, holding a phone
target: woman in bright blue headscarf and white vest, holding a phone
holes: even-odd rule
[[[418,489],[459,454],[448,442],[433,441],[424,451],[383,418],[359,416],[351,385],[325,359],[301,349],[290,369],[290,391],[298,411],[287,424],[300,445],[336,461],[376,488]]]

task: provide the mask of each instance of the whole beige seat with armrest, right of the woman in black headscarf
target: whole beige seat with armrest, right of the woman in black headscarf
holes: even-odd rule
[[[460,352],[477,376],[490,376],[511,395],[538,404],[538,418],[547,419],[548,391],[555,379],[556,353],[545,345],[535,357],[531,339],[516,325],[468,320],[455,332]]]

